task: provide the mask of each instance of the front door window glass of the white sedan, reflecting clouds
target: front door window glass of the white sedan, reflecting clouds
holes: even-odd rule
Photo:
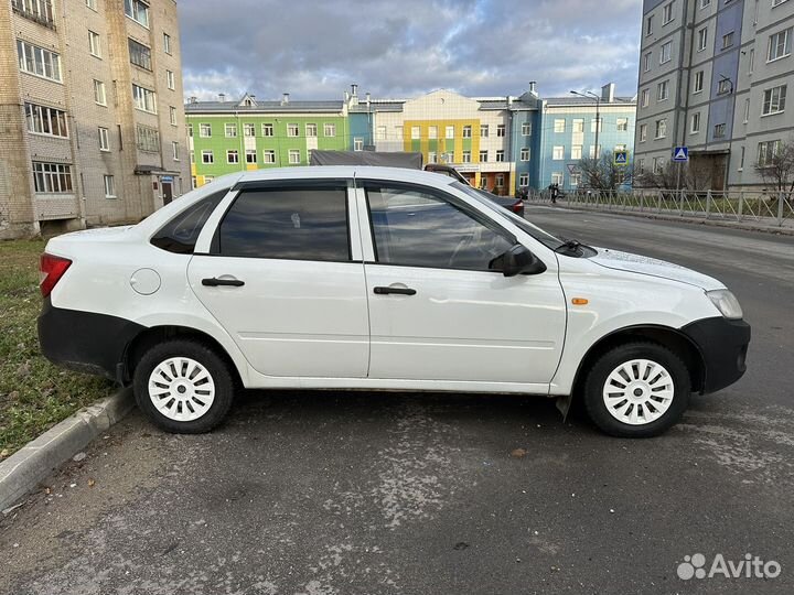
[[[377,183],[365,188],[377,262],[489,271],[514,245],[487,218],[442,195]]]

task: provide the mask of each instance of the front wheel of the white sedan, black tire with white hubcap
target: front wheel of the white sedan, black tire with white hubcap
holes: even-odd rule
[[[584,381],[584,409],[604,433],[651,437],[672,428],[689,404],[684,361],[656,343],[627,343],[602,355]]]

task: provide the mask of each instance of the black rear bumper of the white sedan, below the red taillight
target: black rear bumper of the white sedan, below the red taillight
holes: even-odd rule
[[[121,382],[127,346],[143,329],[117,316],[54,307],[47,298],[39,316],[39,344],[53,364]]]

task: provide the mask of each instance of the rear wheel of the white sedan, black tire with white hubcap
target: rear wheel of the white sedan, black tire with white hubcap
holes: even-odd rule
[[[235,383],[226,361],[192,339],[153,346],[136,366],[138,407],[154,425],[176,434],[202,434],[228,413]]]

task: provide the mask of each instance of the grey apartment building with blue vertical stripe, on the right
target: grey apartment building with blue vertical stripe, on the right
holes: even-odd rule
[[[635,169],[662,170],[677,145],[715,188],[764,186],[794,143],[792,0],[645,0]]]

